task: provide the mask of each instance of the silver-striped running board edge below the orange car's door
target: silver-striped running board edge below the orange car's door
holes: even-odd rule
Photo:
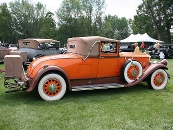
[[[113,83],[113,84],[96,84],[96,85],[82,85],[73,86],[72,91],[82,91],[82,90],[94,90],[94,89],[109,89],[109,88],[121,88],[124,85]]]

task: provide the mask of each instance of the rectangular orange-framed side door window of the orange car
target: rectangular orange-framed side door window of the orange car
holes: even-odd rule
[[[112,42],[101,42],[100,46],[101,53],[116,53],[116,43]]]

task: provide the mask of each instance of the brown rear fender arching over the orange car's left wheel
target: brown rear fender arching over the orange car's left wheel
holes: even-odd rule
[[[28,82],[29,82],[29,87],[27,88],[26,91],[27,91],[27,92],[32,91],[32,90],[36,87],[36,85],[37,85],[38,81],[40,80],[40,78],[41,78],[46,72],[49,72],[49,71],[51,71],[51,72],[52,72],[52,71],[54,71],[54,72],[60,72],[61,74],[63,74],[63,76],[66,78],[67,84],[68,84],[69,86],[71,86],[71,85],[70,85],[70,81],[69,81],[69,79],[68,79],[68,75],[67,75],[67,73],[66,73],[62,68],[57,67],[57,66],[47,66],[47,67],[43,67],[42,69],[40,69],[40,70],[38,71],[37,75],[36,75],[34,78],[28,80]]]

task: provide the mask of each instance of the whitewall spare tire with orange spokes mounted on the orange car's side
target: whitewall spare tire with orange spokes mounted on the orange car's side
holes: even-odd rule
[[[127,82],[131,83],[142,75],[142,65],[136,60],[127,60],[122,69],[121,77]]]

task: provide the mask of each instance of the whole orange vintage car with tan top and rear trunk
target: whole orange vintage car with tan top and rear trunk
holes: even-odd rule
[[[160,90],[166,87],[167,60],[151,63],[145,53],[119,52],[120,41],[100,36],[74,37],[67,41],[67,52],[34,60],[22,71],[18,55],[5,57],[7,92],[38,89],[46,101],[61,99],[67,90],[134,86],[146,81]],[[14,82],[11,82],[14,79]]]

